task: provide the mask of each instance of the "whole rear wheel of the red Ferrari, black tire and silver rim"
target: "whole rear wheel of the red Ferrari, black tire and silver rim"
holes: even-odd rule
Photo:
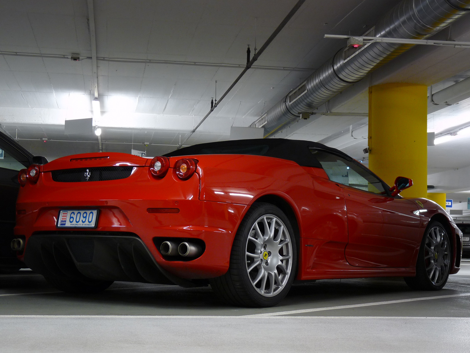
[[[268,225],[270,234],[266,235],[264,224]],[[296,272],[297,242],[289,219],[276,206],[257,202],[248,210],[235,235],[227,273],[211,279],[210,283],[216,294],[229,304],[268,307],[287,295]]]

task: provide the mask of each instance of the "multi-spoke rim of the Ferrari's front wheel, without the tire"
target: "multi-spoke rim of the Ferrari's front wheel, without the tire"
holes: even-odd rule
[[[446,281],[450,265],[450,246],[446,232],[434,226],[426,236],[424,244],[424,265],[431,282],[440,286]]]

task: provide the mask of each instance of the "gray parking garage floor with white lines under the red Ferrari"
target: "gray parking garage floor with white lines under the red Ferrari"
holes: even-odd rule
[[[470,260],[438,292],[401,278],[295,285],[280,305],[231,307],[210,288],[116,282],[71,295],[0,275],[0,352],[470,352]]]

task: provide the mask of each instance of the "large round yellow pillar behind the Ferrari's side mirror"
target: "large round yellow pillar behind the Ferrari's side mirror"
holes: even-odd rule
[[[369,88],[369,168],[393,185],[413,179],[404,197],[427,197],[427,87],[386,83]]]

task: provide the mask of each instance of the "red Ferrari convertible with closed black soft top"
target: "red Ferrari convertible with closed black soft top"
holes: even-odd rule
[[[210,284],[234,305],[279,303],[294,280],[401,276],[441,289],[462,233],[325,145],[198,144],[153,159],[86,153],[18,175],[18,257],[58,289],[113,281]]]

